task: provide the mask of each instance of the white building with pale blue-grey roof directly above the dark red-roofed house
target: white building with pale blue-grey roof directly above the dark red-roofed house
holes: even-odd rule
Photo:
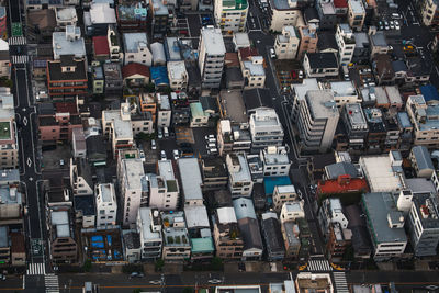
[[[124,65],[138,63],[151,66],[153,54],[148,48],[148,38],[146,33],[124,33]]]

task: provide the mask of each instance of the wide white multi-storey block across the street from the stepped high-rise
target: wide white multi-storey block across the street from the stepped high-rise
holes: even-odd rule
[[[250,115],[249,125],[254,148],[282,145],[283,127],[274,109],[257,109]]]

